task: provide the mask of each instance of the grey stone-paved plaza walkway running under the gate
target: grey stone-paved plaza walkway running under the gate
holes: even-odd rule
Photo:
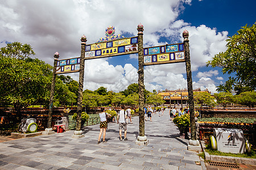
[[[86,126],[80,139],[73,139],[69,130],[2,142],[0,169],[206,169],[197,152],[187,150],[188,140],[177,138],[179,130],[168,112],[145,122],[147,146],[135,145],[139,118],[133,117],[127,141],[119,141],[118,125],[110,123],[107,142],[99,145],[99,125]]]

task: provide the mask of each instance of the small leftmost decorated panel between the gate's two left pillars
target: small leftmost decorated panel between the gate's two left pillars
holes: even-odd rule
[[[80,57],[57,61],[56,74],[75,73],[80,71]]]

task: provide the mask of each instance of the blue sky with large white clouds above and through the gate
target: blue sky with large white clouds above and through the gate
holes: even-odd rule
[[[206,67],[206,62],[225,51],[226,39],[245,24],[255,23],[255,0],[0,0],[0,46],[22,42],[32,46],[36,58],[53,65],[59,59],[80,56],[80,38],[87,44],[105,36],[109,25],[115,35],[137,36],[137,25],[144,25],[143,46],[183,42],[189,31],[193,88],[212,93],[229,75]],[[118,56],[85,62],[84,90],[100,86],[119,92],[138,82],[138,56]],[[78,80],[79,74],[68,74]],[[147,90],[187,88],[185,63],[144,67]]]

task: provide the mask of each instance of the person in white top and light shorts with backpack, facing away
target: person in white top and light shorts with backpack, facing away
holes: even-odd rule
[[[126,118],[127,118],[127,113],[125,111],[125,106],[121,106],[121,111],[118,112],[117,114],[117,124],[119,125],[119,136],[120,136],[120,141],[125,140],[127,141],[126,134],[127,134],[127,124],[126,124]],[[122,129],[125,130],[125,138],[122,139]]]

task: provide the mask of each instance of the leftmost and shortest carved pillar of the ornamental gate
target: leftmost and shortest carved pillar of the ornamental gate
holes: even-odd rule
[[[46,131],[52,131],[52,108],[53,108],[53,97],[54,97],[54,88],[55,88],[55,80],[56,80],[56,67],[57,67],[57,61],[60,55],[58,52],[56,52],[53,57],[54,57],[54,62],[53,62],[52,84],[51,84],[51,91],[50,91],[49,113],[48,113],[48,122],[47,122],[48,130]]]

